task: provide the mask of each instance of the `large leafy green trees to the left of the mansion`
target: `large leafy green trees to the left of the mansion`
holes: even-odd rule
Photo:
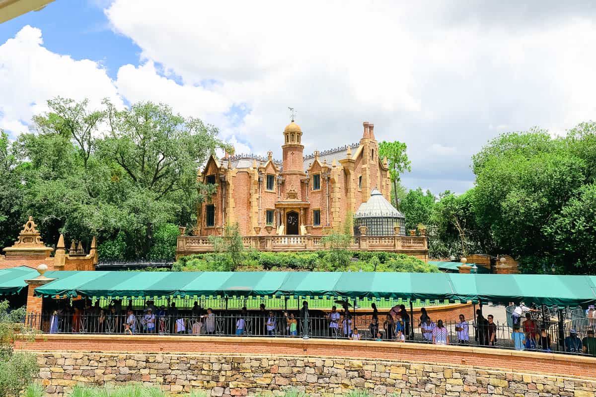
[[[0,132],[0,243],[34,215],[49,243],[97,235],[102,260],[172,258],[174,225],[193,227],[213,192],[196,175],[227,148],[218,130],[151,102],[116,110],[55,98],[48,107],[15,142]]]

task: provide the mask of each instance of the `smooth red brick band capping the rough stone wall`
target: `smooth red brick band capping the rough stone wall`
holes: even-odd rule
[[[20,347],[20,346],[19,346]],[[398,360],[437,365],[470,365],[513,373],[594,378],[596,358],[542,352],[324,339],[209,336],[44,335],[29,343],[32,351],[259,354],[303,357]],[[561,381],[562,382],[562,381]]]

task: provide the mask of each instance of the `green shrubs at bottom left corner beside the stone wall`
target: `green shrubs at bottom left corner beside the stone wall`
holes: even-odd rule
[[[23,324],[24,316],[24,308],[9,313],[8,301],[0,302],[0,397],[17,397],[39,371],[35,355],[13,349],[13,342],[34,335]]]

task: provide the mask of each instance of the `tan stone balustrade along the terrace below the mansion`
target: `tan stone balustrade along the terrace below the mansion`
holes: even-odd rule
[[[318,251],[325,249],[321,236],[245,236],[244,246],[259,251]],[[426,259],[426,237],[411,236],[354,236],[349,249],[354,251],[403,252]],[[213,252],[213,244],[204,236],[178,236],[176,257]]]

